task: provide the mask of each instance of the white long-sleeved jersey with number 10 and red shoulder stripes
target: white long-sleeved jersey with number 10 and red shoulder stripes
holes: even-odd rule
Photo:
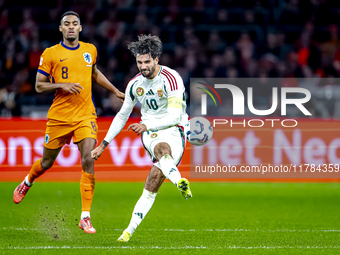
[[[105,141],[110,143],[122,130],[137,101],[142,105],[142,123],[147,130],[184,126],[188,121],[181,76],[173,69],[160,66],[155,78],[147,79],[139,73],[128,83],[124,104],[112,121]]]

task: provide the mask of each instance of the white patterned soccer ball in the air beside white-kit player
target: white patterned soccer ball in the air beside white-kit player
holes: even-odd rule
[[[212,126],[206,118],[191,118],[184,126],[185,139],[193,145],[207,144],[213,134]]]

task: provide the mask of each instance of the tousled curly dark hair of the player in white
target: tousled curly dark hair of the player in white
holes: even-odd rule
[[[138,41],[129,42],[127,47],[135,57],[150,54],[153,59],[161,56],[163,48],[161,39],[155,35],[139,35]]]

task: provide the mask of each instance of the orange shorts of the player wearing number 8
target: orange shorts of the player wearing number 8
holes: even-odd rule
[[[63,147],[70,144],[71,138],[78,143],[85,138],[97,140],[97,121],[87,119],[75,123],[65,123],[56,120],[49,120],[46,124],[44,146],[48,149]]]

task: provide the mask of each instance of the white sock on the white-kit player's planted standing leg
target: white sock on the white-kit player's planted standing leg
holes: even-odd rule
[[[136,228],[145,218],[146,214],[151,209],[153,202],[155,201],[157,193],[150,192],[146,189],[143,189],[143,194],[137,201],[135,208],[132,212],[132,218],[129,226],[127,227],[127,231],[132,235],[135,232]]]

